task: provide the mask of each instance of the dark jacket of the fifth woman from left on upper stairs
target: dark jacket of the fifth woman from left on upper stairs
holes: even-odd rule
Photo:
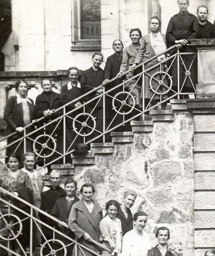
[[[105,79],[110,80],[116,77],[116,75],[119,73],[121,63],[122,63],[122,58],[120,59],[119,56],[116,55],[116,53],[110,55],[107,58],[105,68],[104,68],[104,80]],[[110,83],[110,85],[108,85],[107,90],[120,84],[121,82],[122,82],[122,78],[114,80],[113,82]],[[120,89],[122,91],[121,87]],[[117,89],[117,90],[120,90],[120,89]]]

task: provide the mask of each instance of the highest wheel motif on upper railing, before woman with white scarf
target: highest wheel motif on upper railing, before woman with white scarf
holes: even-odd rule
[[[158,78],[156,76],[159,76]],[[170,85],[168,86],[167,84],[165,84],[164,82],[164,78],[162,78],[162,76],[165,78],[165,76],[167,76],[169,79],[170,79]],[[161,88],[161,90],[159,90],[160,88],[154,88],[152,86],[152,80],[154,80],[154,82],[157,82],[158,83],[158,87]],[[151,90],[156,93],[156,94],[159,94],[159,95],[163,95],[163,94],[166,94],[168,93],[168,91],[170,91],[172,85],[173,85],[173,80],[171,78],[171,76],[164,72],[164,71],[158,71],[158,72],[155,72],[151,77],[150,77],[150,80],[149,80],[149,85],[150,85],[150,88]]]

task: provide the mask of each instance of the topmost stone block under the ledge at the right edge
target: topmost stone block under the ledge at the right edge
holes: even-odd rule
[[[214,132],[215,115],[194,115],[194,132]]]

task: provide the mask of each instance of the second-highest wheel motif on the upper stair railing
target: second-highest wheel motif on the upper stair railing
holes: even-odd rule
[[[129,105],[127,102],[132,100],[132,105]],[[118,106],[119,107],[119,110],[117,110],[117,106],[115,105],[115,103],[118,103]],[[120,91],[119,93],[117,93],[114,98],[113,98],[113,101],[112,101],[112,105],[113,105],[113,109],[116,111],[116,113],[120,114],[120,115],[127,115],[129,113],[132,112],[132,110],[134,109],[135,107],[135,99],[134,99],[134,96],[129,93],[128,91]],[[126,110],[128,108],[130,108],[129,110],[125,110],[125,107],[126,107]],[[124,111],[123,111],[124,109]]]

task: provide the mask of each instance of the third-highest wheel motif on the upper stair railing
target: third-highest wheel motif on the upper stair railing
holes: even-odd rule
[[[90,126],[91,124],[93,127]],[[76,127],[76,126],[78,126],[78,127]],[[75,133],[77,133],[78,135],[83,136],[83,137],[89,136],[90,134],[93,133],[93,131],[96,128],[96,120],[89,113],[80,113],[74,118],[74,120],[72,122],[72,127],[73,127]],[[91,131],[89,131],[89,129],[91,129]],[[87,130],[87,132],[86,132],[86,130]]]

